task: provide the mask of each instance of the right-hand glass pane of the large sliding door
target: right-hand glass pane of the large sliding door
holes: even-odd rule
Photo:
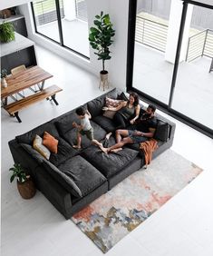
[[[213,129],[213,71],[209,72],[212,59],[213,10],[194,6],[186,59],[179,64],[171,107],[210,129]]]

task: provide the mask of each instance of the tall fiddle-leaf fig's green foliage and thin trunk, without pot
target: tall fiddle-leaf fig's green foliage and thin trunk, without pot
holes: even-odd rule
[[[104,62],[111,59],[110,45],[113,43],[111,37],[114,36],[115,30],[112,29],[110,15],[96,15],[94,26],[90,29],[89,41],[93,49],[97,50],[98,60],[102,60],[102,71],[105,71]]]

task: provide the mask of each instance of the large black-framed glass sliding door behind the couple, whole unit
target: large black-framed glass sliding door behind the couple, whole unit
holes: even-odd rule
[[[213,136],[213,5],[188,2],[131,1],[127,85]]]

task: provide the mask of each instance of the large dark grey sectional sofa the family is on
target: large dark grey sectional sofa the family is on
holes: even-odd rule
[[[98,141],[102,141],[106,133],[116,130],[111,119],[102,116],[105,96],[116,99],[119,94],[121,92],[113,89],[84,105],[92,114],[94,137]],[[75,150],[73,143],[76,130],[73,121],[78,122],[75,110],[16,136],[9,142],[14,161],[23,165],[34,179],[37,189],[66,219],[144,165],[144,155],[139,150],[139,144],[126,146],[118,153],[105,154],[83,136],[82,150]],[[153,153],[153,158],[172,145],[175,132],[175,123],[160,115],[158,122],[155,138],[159,148]],[[35,135],[43,136],[44,132],[51,133],[59,141],[58,153],[52,153],[49,161],[32,147]],[[113,136],[108,143],[115,143]]]

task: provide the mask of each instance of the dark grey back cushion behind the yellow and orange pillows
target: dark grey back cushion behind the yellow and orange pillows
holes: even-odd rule
[[[44,124],[34,128],[30,132],[16,136],[15,138],[17,139],[18,143],[26,143],[26,144],[33,145],[35,135],[38,134],[40,137],[43,137],[44,132],[50,133],[54,137],[59,136],[59,133],[58,133],[54,123],[51,121],[51,122],[44,123]]]

